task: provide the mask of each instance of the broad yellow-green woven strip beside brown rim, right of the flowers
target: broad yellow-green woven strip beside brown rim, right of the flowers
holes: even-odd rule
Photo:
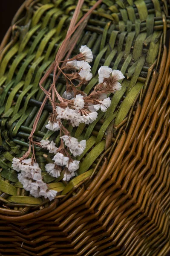
[[[144,86],[143,83],[137,82],[135,86],[132,88],[132,90],[127,94],[116,116],[115,126],[120,124],[127,116],[127,113],[130,111],[130,108],[132,107],[133,102],[138,93],[140,92],[142,86]]]

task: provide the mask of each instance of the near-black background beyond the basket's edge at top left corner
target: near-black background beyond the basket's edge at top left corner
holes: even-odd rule
[[[0,0],[0,42],[8,30],[12,18],[24,0]],[[167,256],[170,256],[168,253]]]

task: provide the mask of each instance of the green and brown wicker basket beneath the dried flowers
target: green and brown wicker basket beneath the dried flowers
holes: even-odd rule
[[[87,140],[79,176],[68,184],[43,179],[60,193],[51,203],[33,198],[12,170],[44,94],[38,84],[66,35],[76,0],[26,0],[0,46],[0,255],[166,256],[170,250],[170,27],[168,4],[158,0],[103,0],[74,52],[86,44],[100,65],[125,79],[108,111],[71,129]],[[85,1],[80,17],[95,1]],[[79,17],[79,18],[80,18]],[[52,75],[45,87],[51,83]],[[62,77],[57,89],[65,90]],[[46,104],[34,140],[58,134],[45,124]],[[44,171],[48,156],[36,148]]]

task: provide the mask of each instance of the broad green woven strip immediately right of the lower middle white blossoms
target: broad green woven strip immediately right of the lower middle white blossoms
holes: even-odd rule
[[[89,154],[85,157],[83,162],[80,165],[80,168],[78,169],[78,174],[82,174],[86,172],[89,167],[94,163],[94,161],[98,158],[98,156],[104,151],[105,148],[105,141],[102,140],[98,145],[96,145]]]

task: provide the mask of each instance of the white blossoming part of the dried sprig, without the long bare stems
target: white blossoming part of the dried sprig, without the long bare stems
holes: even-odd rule
[[[101,66],[98,70],[98,83],[89,95],[86,95],[80,88],[86,86],[88,81],[92,79],[89,64],[92,60],[92,50],[86,45],[81,46],[78,55],[64,61],[61,65],[60,71],[66,80],[66,91],[62,97],[56,88],[53,90],[53,93],[56,94],[53,95],[53,101],[50,94],[46,93],[53,109],[46,128],[60,132],[60,143],[59,147],[56,147],[54,141],[41,140],[37,145],[52,154],[52,163],[46,164],[46,172],[56,178],[63,174],[65,181],[69,181],[75,176],[75,172],[79,168],[79,161],[75,157],[84,152],[86,140],[78,142],[76,138],[71,137],[63,125],[64,121],[66,120],[73,127],[77,127],[81,123],[89,125],[94,122],[98,117],[98,111],[107,111],[111,105],[110,93],[120,90],[119,81],[124,79],[121,71]],[[55,98],[58,99],[57,102],[54,102]],[[43,182],[38,164],[34,161],[32,163],[31,159],[24,160],[23,158],[14,158],[12,167],[20,172],[18,179],[23,184],[24,189],[30,191],[30,194],[35,197],[44,196],[49,200],[55,198],[57,192],[49,190],[46,183]]]

